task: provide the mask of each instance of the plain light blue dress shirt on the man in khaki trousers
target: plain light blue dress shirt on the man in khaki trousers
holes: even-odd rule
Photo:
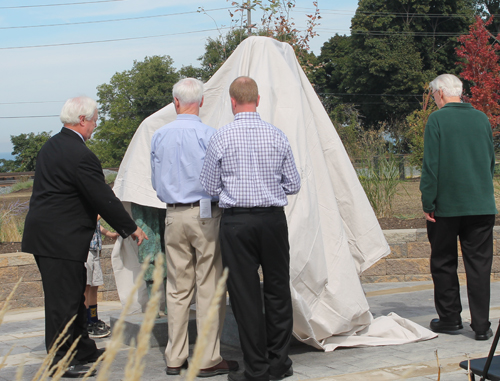
[[[217,201],[203,190],[200,173],[215,128],[196,115],[180,114],[155,132],[151,140],[151,182],[167,204],[189,204],[203,198]]]

